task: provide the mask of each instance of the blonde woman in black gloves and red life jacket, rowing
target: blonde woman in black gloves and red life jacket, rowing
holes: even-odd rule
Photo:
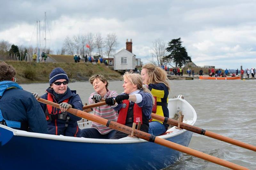
[[[118,111],[117,122],[132,127],[132,123],[141,122],[140,130],[148,132],[148,123],[151,119],[153,96],[147,88],[142,87],[140,74],[124,73],[124,92],[114,98],[107,98],[105,101]],[[126,137],[123,132],[116,132],[110,139],[120,139]]]

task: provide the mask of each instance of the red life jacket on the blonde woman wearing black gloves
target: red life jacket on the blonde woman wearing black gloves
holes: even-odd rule
[[[129,105],[130,105],[129,100],[123,100],[122,108],[119,111],[117,123],[121,123],[121,124],[125,125]],[[138,104],[134,103],[134,106],[133,106],[133,122],[136,123],[136,125],[138,125],[139,121],[141,122],[141,125],[142,125],[142,108],[139,107]]]

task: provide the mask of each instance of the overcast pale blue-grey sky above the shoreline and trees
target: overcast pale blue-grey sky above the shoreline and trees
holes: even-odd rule
[[[36,47],[36,20],[44,29],[44,12],[49,25],[46,43],[54,51],[66,36],[92,32],[105,37],[115,32],[116,52],[132,39],[132,52],[147,63],[154,40],[167,44],[180,37],[197,66],[256,67],[256,0],[0,0],[0,40]]]

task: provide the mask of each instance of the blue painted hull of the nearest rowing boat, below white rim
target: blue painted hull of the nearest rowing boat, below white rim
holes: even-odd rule
[[[0,127],[0,169],[162,169],[182,156],[156,143],[84,143],[13,135]],[[166,140],[188,146],[192,132]],[[2,138],[3,139],[3,138]]]

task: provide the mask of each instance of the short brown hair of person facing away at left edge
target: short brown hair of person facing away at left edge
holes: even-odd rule
[[[0,63],[0,81],[11,81],[16,71],[13,66],[9,66],[5,62]]]

